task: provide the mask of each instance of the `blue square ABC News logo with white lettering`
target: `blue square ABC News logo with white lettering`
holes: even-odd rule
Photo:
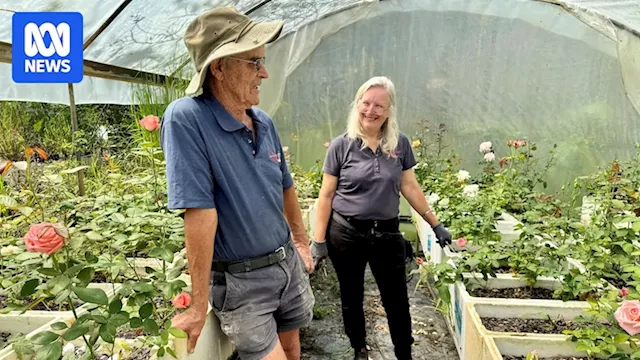
[[[83,76],[82,14],[18,12],[12,18],[17,83],[78,83]]]

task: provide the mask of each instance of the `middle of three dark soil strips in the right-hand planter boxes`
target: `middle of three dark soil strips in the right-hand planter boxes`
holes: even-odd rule
[[[489,331],[562,334],[564,330],[576,330],[579,324],[562,319],[482,318]]]

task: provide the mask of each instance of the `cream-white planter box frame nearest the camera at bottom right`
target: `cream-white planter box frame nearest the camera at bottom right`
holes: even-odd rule
[[[579,315],[585,314],[585,307],[575,302],[566,302],[557,306],[544,306],[535,304],[474,304],[470,303],[465,308],[465,317],[468,326],[465,327],[465,354],[482,354],[485,348],[485,339],[491,337],[516,338],[515,344],[521,346],[521,339],[542,338],[544,340],[557,339],[566,342],[567,336],[563,334],[537,334],[537,333],[505,333],[487,330],[482,324],[482,318],[540,318],[540,319],[563,319],[572,320]],[[506,342],[508,343],[508,342]],[[537,343],[536,343],[537,344]],[[570,348],[562,349],[575,350],[575,343],[570,343]],[[538,349],[536,349],[538,350]],[[557,349],[558,350],[558,349]],[[556,351],[557,351],[556,350]],[[510,353],[509,355],[515,355]],[[523,355],[526,355],[523,354]],[[558,354],[561,355],[561,354]],[[567,355],[566,353],[564,355]]]

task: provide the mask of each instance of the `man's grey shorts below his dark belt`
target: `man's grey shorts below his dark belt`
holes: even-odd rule
[[[278,342],[278,333],[307,326],[315,299],[303,261],[293,244],[278,264],[250,272],[213,271],[209,300],[222,331],[242,360],[259,360]]]

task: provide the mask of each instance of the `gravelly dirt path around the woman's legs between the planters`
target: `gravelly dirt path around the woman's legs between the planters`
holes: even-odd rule
[[[434,299],[424,285],[416,289],[417,281],[418,276],[413,276],[407,284],[415,339],[413,359],[458,360],[458,352],[442,314],[434,309]],[[300,331],[301,359],[352,359],[353,349],[342,322],[340,289],[330,260],[311,275],[311,286],[316,299],[314,320]],[[368,267],[365,275],[364,309],[369,358],[395,359],[380,293]]]

